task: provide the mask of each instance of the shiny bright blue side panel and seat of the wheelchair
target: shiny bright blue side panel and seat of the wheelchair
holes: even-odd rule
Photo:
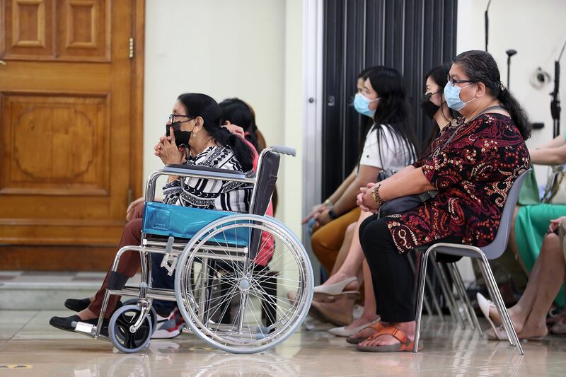
[[[142,231],[158,236],[192,238],[202,228],[217,219],[233,215],[233,212],[213,211],[211,209],[174,206],[156,202],[146,202]],[[247,222],[247,221],[246,221]],[[221,245],[246,247],[250,243],[248,232],[229,229],[221,231],[218,237],[209,240]]]

